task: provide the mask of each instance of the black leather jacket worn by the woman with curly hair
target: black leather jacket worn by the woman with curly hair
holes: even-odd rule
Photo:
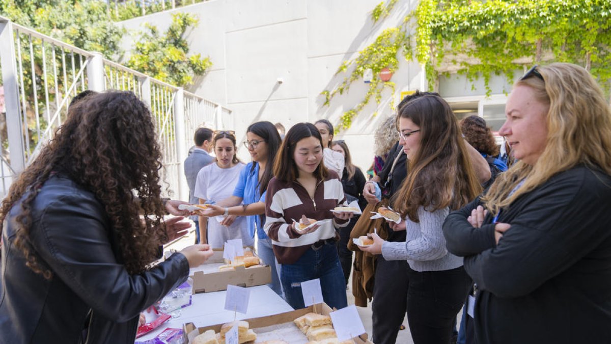
[[[189,263],[175,253],[130,275],[104,207],[70,179],[50,178],[32,202],[31,242],[50,280],[16,249],[13,206],[2,239],[0,343],[133,343],[139,313],[185,282]]]

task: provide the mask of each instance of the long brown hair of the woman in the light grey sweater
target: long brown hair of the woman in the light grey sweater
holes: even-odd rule
[[[417,210],[456,210],[481,192],[450,105],[438,95],[422,95],[400,108],[399,118],[420,127],[420,148],[408,160],[408,175],[393,197],[403,217],[419,222]]]

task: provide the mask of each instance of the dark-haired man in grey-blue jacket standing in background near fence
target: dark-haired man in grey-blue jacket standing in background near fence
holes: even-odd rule
[[[203,166],[210,165],[214,162],[214,157],[208,154],[212,148],[212,135],[213,131],[211,129],[197,129],[194,135],[195,146],[189,150],[189,156],[185,159],[185,177],[189,185],[189,203],[191,204],[199,203],[197,197],[193,195],[197,173],[199,173],[199,170],[201,170]],[[200,237],[197,215],[192,215],[190,219],[195,222],[195,233],[197,235],[196,244],[198,244],[200,242]]]

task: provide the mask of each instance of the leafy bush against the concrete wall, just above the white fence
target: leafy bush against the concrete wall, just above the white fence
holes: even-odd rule
[[[186,30],[196,26],[198,20],[188,13],[172,14],[172,24],[160,34],[153,24],[145,24],[131,54],[128,67],[147,73],[170,84],[185,86],[194,75],[203,75],[211,67],[210,58],[200,54],[188,56],[189,45],[183,38]]]

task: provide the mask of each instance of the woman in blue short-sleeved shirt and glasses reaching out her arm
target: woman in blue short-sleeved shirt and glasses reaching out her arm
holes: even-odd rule
[[[282,296],[280,286],[280,265],[276,261],[271,246],[271,239],[263,231],[265,222],[265,190],[273,178],[274,156],[280,148],[280,135],[271,122],[255,122],[246,130],[244,145],[251,154],[252,162],[240,173],[233,196],[219,201],[216,206],[203,212],[206,216],[231,215],[247,216],[247,225],[251,236],[258,236],[257,254],[271,266],[271,288]],[[243,204],[240,204],[243,203]]]

